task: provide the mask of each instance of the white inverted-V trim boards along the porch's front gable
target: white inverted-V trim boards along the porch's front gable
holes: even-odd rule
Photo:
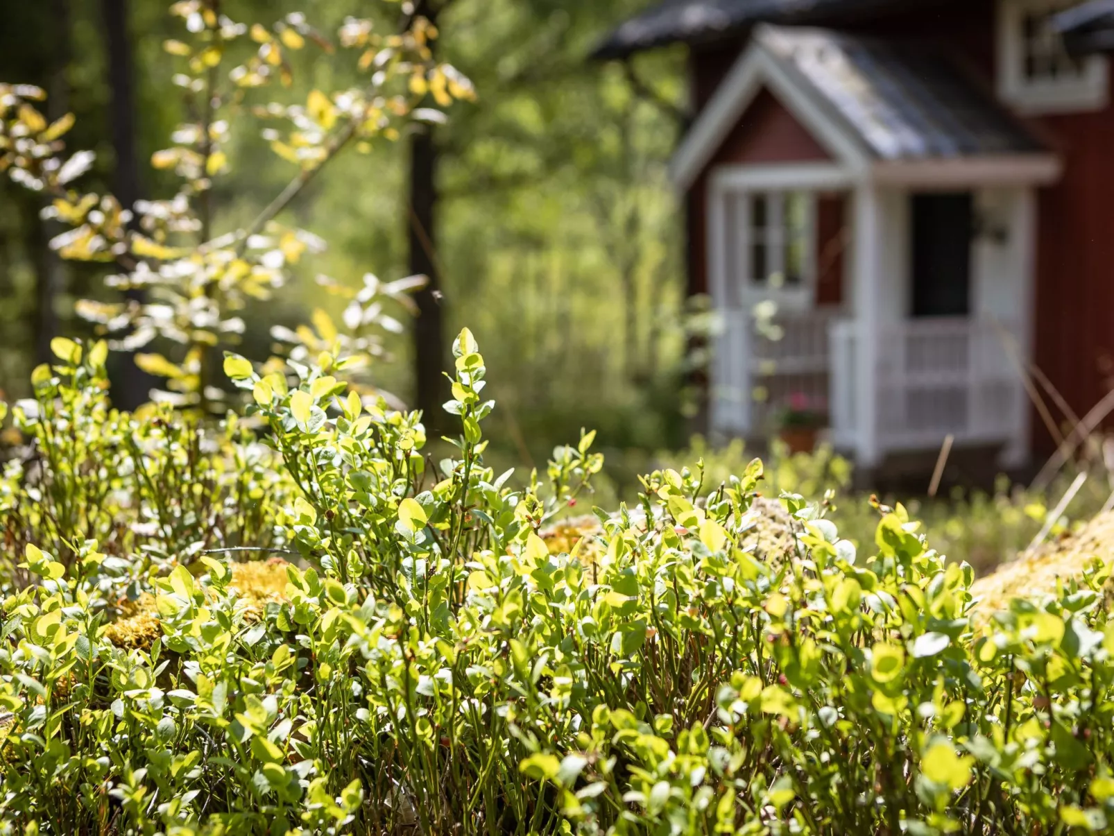
[[[763,86],[834,159],[859,172],[869,166],[870,157],[860,142],[765,51],[756,31],[673,157],[670,176],[678,189],[687,191],[695,183]]]

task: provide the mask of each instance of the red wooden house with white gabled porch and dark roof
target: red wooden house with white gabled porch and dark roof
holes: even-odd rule
[[[690,45],[673,177],[723,323],[714,432],[804,393],[867,467],[948,435],[1022,465],[1033,392],[1084,415],[1114,388],[1114,9],[1079,6],[670,0],[600,47]]]

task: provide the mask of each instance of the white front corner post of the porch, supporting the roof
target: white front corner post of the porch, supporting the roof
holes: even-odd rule
[[[860,467],[876,467],[882,449],[878,443],[878,330],[881,323],[879,289],[882,282],[882,218],[878,187],[863,183],[854,189],[853,280],[854,331],[857,350],[854,415],[856,461]]]

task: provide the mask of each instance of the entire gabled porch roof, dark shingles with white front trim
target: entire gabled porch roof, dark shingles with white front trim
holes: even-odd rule
[[[971,158],[1055,163],[989,90],[929,46],[764,25],[677,150],[678,186],[692,185],[763,86],[856,171]]]

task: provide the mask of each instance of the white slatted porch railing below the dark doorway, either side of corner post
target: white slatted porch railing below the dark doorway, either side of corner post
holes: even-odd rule
[[[878,333],[877,448],[928,449],[945,436],[993,444],[1016,438],[1022,418],[1012,323],[969,318],[909,320]],[[857,323],[831,329],[832,438],[854,448],[861,431]]]

